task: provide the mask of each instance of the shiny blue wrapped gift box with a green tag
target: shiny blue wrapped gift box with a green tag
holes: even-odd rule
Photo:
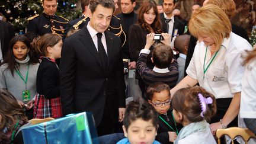
[[[23,127],[25,144],[99,143],[92,113],[72,114],[60,119]]]

